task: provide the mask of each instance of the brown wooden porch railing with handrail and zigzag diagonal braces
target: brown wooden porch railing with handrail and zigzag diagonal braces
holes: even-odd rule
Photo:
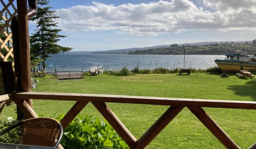
[[[3,99],[9,96],[3,97]],[[232,109],[256,109],[256,102],[250,101],[230,101],[230,100],[203,100],[203,99],[178,99],[161,97],[141,97],[141,96],[117,96],[100,94],[68,94],[51,92],[14,92],[12,96],[19,109],[27,118],[38,117],[34,110],[24,99],[43,99],[43,100],[71,100],[77,101],[75,105],[60,121],[65,129],[69,123],[78,115],[79,112],[89,103],[103,115],[110,125],[117,131],[131,149],[143,149],[146,147],[178,113],[187,107],[206,128],[228,149],[240,149],[240,147],[223,131],[220,126],[203,110],[202,107],[211,108],[232,108]],[[0,97],[0,99],[2,99]],[[162,116],[139,138],[138,140],[117,118],[112,110],[105,104],[126,103],[126,104],[151,104],[169,105]],[[250,147],[255,149],[256,144]]]

